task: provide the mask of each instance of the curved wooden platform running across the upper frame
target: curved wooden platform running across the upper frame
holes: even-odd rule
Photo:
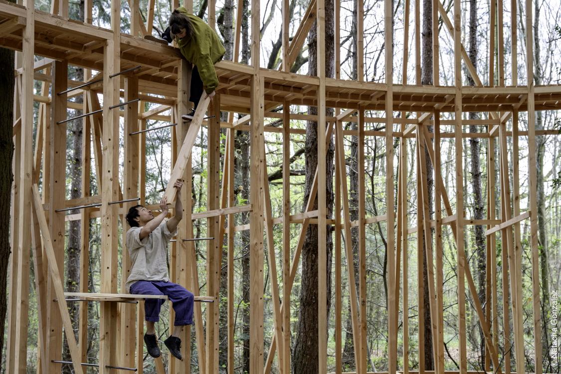
[[[53,22],[52,20],[56,20]],[[21,50],[22,29],[25,25],[25,8],[0,0],[0,45]],[[5,26],[4,26],[5,25]],[[103,70],[103,48],[105,40],[112,38],[112,31],[84,24],[48,13],[35,11],[35,54],[52,59],[67,59],[76,66]],[[178,50],[155,41],[121,34],[121,70],[141,65],[135,72],[139,77],[139,90],[146,95],[159,98],[142,98],[158,103],[173,104],[177,97],[177,66],[181,57]],[[250,112],[251,76],[253,69],[244,64],[222,61],[216,64],[219,79],[217,93],[221,94],[222,110],[240,113]],[[36,64],[40,67],[40,63]],[[282,104],[317,105],[319,79],[295,73],[261,69],[264,77],[265,108]],[[35,79],[45,80],[40,73]],[[69,86],[76,84],[69,83]],[[89,89],[99,90],[101,83]],[[124,77],[121,78],[124,88]],[[341,79],[325,80],[327,107],[384,110],[387,85],[374,82],[357,82]],[[393,85],[393,110],[434,110],[439,105],[441,112],[453,112],[456,93],[452,86]],[[515,106],[519,111],[527,110],[526,86],[516,87],[462,87],[463,112],[508,111]],[[561,85],[536,86],[536,110],[561,109]]]

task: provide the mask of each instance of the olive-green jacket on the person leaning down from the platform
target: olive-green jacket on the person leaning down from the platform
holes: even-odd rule
[[[193,37],[188,40],[187,38],[178,40],[177,46],[183,57],[197,67],[205,91],[210,94],[218,87],[214,64],[222,59],[226,49],[216,32],[205,21],[188,13],[184,7],[179,7],[177,10],[185,14],[193,25]]]

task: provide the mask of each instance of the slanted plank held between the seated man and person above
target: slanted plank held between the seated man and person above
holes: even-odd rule
[[[179,155],[177,155],[176,164],[173,167],[172,174],[169,176],[168,186],[165,188],[165,197],[168,200],[168,204],[171,204],[176,196],[176,189],[173,188],[173,183],[177,179],[180,179],[185,171],[187,161],[189,156],[191,156],[191,151],[193,149],[193,145],[195,144],[195,140],[197,138],[197,134],[199,133],[199,129],[201,128],[201,124],[203,123],[203,117],[206,113],[206,108],[210,103],[210,98],[203,92],[201,96],[201,101],[199,102],[199,106],[195,112],[195,117],[189,124],[189,130],[187,131],[187,136],[183,141],[183,145],[181,146],[181,150]]]

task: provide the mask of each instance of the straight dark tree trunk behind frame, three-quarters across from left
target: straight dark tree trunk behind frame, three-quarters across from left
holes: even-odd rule
[[[433,84],[433,3],[431,0],[423,0],[423,20],[422,20],[422,56],[421,56],[421,84]],[[429,126],[429,131],[433,132],[433,127]],[[425,147],[426,159],[426,182],[427,190],[429,190],[429,207],[433,206],[433,163],[430,161],[429,151]],[[429,209],[430,217],[433,217],[433,209]],[[432,242],[433,231],[431,230],[430,242]],[[421,238],[421,235],[419,236]],[[422,233],[424,237],[424,233]],[[434,355],[433,355],[433,336],[430,333],[430,299],[429,299],[429,277],[427,274],[426,264],[426,247],[423,244],[423,257],[422,257],[422,278],[423,278],[423,294],[424,294],[424,316],[425,321],[425,370],[434,370]]]

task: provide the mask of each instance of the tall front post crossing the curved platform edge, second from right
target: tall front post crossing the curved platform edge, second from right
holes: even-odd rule
[[[458,331],[459,331],[459,372],[467,373],[466,353],[466,258],[463,248],[463,149],[462,149],[462,55],[461,55],[460,1],[454,0],[454,139],[456,149],[456,248],[458,251]],[[475,296],[474,296],[475,297]]]

